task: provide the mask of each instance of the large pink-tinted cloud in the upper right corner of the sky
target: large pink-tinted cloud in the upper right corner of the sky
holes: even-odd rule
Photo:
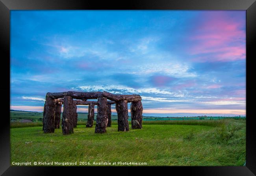
[[[203,13],[207,21],[200,22],[189,38],[194,45],[191,55],[198,62],[225,62],[245,59],[245,23],[232,19],[228,13]]]

